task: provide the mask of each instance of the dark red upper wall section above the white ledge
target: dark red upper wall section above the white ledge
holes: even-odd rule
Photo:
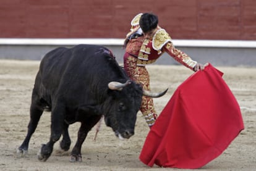
[[[153,12],[173,39],[256,40],[254,0],[1,0],[0,38],[124,38]]]

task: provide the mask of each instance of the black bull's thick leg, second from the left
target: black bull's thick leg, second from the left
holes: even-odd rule
[[[51,136],[47,144],[42,144],[38,152],[38,160],[45,162],[53,152],[53,146],[61,138],[64,123],[64,107],[55,107],[51,112]]]

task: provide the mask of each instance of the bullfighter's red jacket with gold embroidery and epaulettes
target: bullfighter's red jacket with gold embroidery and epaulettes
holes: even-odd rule
[[[139,20],[142,14],[138,14],[131,22],[132,27],[126,36],[126,52],[131,56],[137,57],[137,65],[143,66],[152,64],[164,52],[167,52],[177,62],[193,69],[197,62],[192,60],[186,53],[176,49],[171,41],[171,36],[163,29],[158,27],[155,35],[151,40],[146,39],[144,36],[136,36],[130,39],[130,36],[138,32]]]

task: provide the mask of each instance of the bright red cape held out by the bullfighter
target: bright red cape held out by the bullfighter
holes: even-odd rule
[[[148,133],[140,161],[197,169],[228,148],[244,123],[222,75],[209,64],[177,88]]]

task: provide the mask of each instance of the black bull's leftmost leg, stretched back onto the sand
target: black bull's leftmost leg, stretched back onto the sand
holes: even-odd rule
[[[43,109],[38,107],[40,106],[38,104],[40,104],[40,102],[38,101],[38,98],[34,96],[32,98],[32,104],[30,106],[30,122],[28,123],[27,136],[25,137],[23,143],[17,149],[17,153],[20,154],[21,156],[27,154],[30,138],[35,132],[40,117],[43,114]]]

